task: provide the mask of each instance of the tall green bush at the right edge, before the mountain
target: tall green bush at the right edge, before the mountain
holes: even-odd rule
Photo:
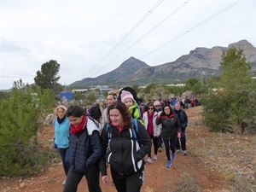
[[[220,63],[219,79],[209,80],[209,91],[202,96],[202,116],[210,131],[255,132],[255,79],[240,49],[228,49]]]

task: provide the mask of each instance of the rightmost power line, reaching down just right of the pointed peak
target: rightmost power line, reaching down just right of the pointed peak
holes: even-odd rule
[[[241,3],[242,1],[243,1],[243,0],[238,0],[238,1],[236,1],[235,3],[232,3],[232,4],[230,4],[229,6],[225,7],[224,9],[221,9],[221,10],[218,11],[216,14],[214,14],[214,15],[208,17],[206,20],[201,21],[200,23],[196,24],[195,26],[192,26],[191,28],[189,28],[189,29],[186,30],[185,32],[182,32],[181,34],[177,35],[175,38],[172,38],[171,40],[167,41],[166,44],[162,44],[160,47],[158,47],[158,48],[156,48],[156,49],[154,49],[154,50],[148,52],[148,54],[143,55],[140,59],[143,59],[144,57],[153,54],[155,51],[157,51],[157,50],[159,50],[159,49],[165,47],[167,44],[171,44],[173,41],[177,40],[178,38],[183,37],[185,34],[187,34],[187,33],[189,33],[189,32],[192,32],[193,30],[195,30],[195,29],[198,28],[199,26],[205,24],[207,21],[212,20],[214,17],[216,17],[216,16],[218,16],[218,15],[224,13],[226,10],[228,10],[228,9],[230,9],[230,8],[232,8],[232,7],[234,7],[236,4]]]

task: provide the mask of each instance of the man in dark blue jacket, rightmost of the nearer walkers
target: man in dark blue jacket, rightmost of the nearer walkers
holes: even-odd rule
[[[180,121],[180,125],[182,126],[182,133],[181,133],[181,138],[180,138],[180,142],[177,140],[176,143],[176,153],[179,153],[180,148],[182,148],[183,150],[183,154],[187,155],[187,151],[186,151],[186,128],[188,126],[188,116],[187,113],[180,107],[180,103],[177,102],[174,106],[174,113],[177,114],[177,117]]]

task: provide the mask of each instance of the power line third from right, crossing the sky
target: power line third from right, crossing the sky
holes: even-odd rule
[[[119,47],[119,45],[122,44],[122,43],[125,41],[125,39],[128,38],[129,35],[131,35],[131,32],[134,32],[134,31],[137,29],[137,27],[140,26],[140,25],[143,23],[143,21],[146,20],[146,19],[148,18],[148,16],[151,15],[151,14],[154,12],[154,10],[157,9],[157,8],[160,6],[161,3],[163,3],[163,1],[164,1],[164,0],[160,0],[158,3],[154,4],[154,7],[153,7],[152,9],[150,9],[150,10],[148,11],[148,13],[147,13],[146,15],[144,15],[143,18],[142,18],[141,20],[139,20],[139,21],[137,22],[137,24],[136,24],[135,26],[133,26],[133,27],[131,28],[131,30],[130,30],[129,32],[127,32],[127,33],[125,34],[125,36],[124,36],[123,38],[121,38],[121,39],[119,40],[119,42],[118,42],[117,44],[115,44],[115,45],[113,46],[113,48],[112,48],[110,51],[108,51],[107,55],[103,56],[102,59],[101,59],[100,61],[98,61],[98,62],[96,63],[96,65],[94,65],[94,67],[91,68],[91,70],[90,70],[88,73],[90,73],[90,72],[91,72],[96,66],[98,66],[104,59],[106,59],[106,58],[108,57],[108,55],[110,55],[110,54],[113,52],[114,49],[116,49],[117,47]]]

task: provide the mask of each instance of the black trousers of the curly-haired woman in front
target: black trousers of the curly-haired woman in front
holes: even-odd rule
[[[113,183],[118,192],[140,192],[143,186],[144,172],[135,172],[129,176],[122,176],[111,169]]]

